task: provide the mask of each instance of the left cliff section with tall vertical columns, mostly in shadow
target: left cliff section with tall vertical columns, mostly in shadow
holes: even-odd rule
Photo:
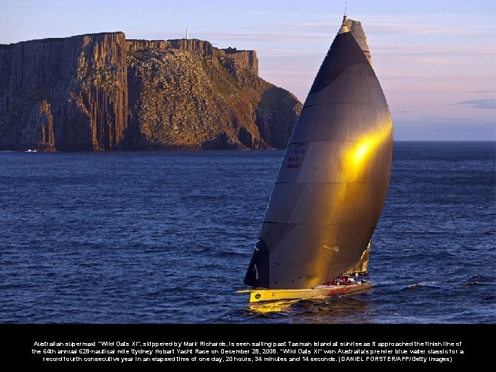
[[[0,147],[116,149],[127,127],[125,36],[87,34],[0,50]]]

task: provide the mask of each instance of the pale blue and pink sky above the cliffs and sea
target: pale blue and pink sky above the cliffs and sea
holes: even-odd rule
[[[362,22],[396,141],[496,141],[494,0],[0,0],[0,44],[94,32],[256,50],[307,98],[347,16]]]

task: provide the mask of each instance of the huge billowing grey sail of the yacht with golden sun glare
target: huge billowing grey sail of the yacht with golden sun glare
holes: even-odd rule
[[[245,285],[304,289],[366,265],[392,151],[362,26],[344,17],[291,134]]]

